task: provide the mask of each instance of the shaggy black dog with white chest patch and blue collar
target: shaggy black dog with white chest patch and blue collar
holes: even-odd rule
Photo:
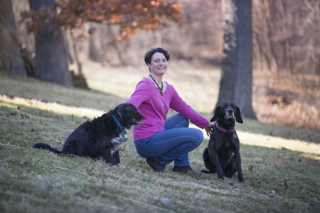
[[[102,157],[107,164],[118,165],[119,148],[128,137],[125,129],[141,125],[144,118],[132,104],[120,104],[101,117],[81,124],[68,136],[62,151],[45,143],[36,143],[35,148],[63,155]]]

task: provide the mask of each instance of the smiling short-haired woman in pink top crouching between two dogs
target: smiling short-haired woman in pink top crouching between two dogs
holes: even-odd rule
[[[133,104],[146,118],[140,126],[133,126],[133,141],[138,154],[147,158],[148,165],[164,172],[165,165],[174,161],[173,172],[193,172],[188,152],[203,141],[200,129],[188,128],[189,121],[211,134],[213,124],[192,109],[178,95],[172,85],[162,81],[168,69],[170,55],[163,48],[152,48],[145,55],[149,75],[136,86],[126,103]],[[177,111],[167,119],[169,108]]]

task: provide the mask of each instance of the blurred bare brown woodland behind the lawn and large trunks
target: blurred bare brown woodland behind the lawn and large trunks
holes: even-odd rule
[[[21,21],[29,1],[11,2],[21,55],[28,75],[34,76],[35,36]],[[178,66],[220,67],[221,0],[177,2],[183,24],[170,22],[154,32],[137,29],[128,40],[118,37],[117,25],[90,22],[73,30],[62,28],[68,63],[74,65],[73,85],[85,86],[83,63],[139,66],[153,47],[167,49]],[[257,119],[319,131],[320,1],[252,0],[252,57],[252,106]]]

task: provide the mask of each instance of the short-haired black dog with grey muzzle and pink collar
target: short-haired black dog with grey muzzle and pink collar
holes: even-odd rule
[[[238,172],[238,179],[244,182],[241,169],[240,141],[237,136],[235,119],[243,123],[239,107],[232,102],[223,102],[218,106],[210,122],[216,121],[210,135],[208,148],[203,151],[205,167],[203,173],[217,173],[218,179],[223,175],[231,178]]]

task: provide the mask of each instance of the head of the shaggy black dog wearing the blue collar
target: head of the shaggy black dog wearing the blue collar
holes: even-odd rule
[[[133,104],[119,104],[112,113],[126,129],[131,129],[132,125],[140,126],[145,119]]]

